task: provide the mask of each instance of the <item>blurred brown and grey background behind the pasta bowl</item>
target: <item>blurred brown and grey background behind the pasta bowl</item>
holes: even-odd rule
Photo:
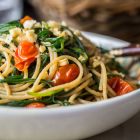
[[[0,0],[0,22],[30,15],[138,43],[140,0]]]

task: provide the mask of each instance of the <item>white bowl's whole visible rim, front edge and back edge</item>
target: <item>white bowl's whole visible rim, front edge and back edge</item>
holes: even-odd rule
[[[105,40],[107,39],[108,41],[115,41],[115,42],[120,42],[122,44],[127,45],[129,42],[106,36],[106,35],[101,35],[101,34],[96,34],[96,33],[91,33],[91,32],[83,32],[84,35],[86,36],[91,36],[90,38],[93,38],[96,36],[97,38],[101,39],[104,38]],[[125,94],[122,96],[117,96],[113,97],[107,100],[102,100],[98,102],[91,102],[88,104],[78,104],[78,105],[70,105],[70,106],[61,106],[61,107],[56,107],[56,108],[25,108],[25,107],[11,107],[11,106],[0,106],[0,113],[4,114],[14,114],[14,115],[35,115],[35,114],[44,114],[44,113],[50,113],[50,114],[59,114],[59,113],[65,113],[66,111],[73,112],[73,111],[81,111],[87,108],[93,108],[93,107],[98,107],[98,106],[104,106],[104,105],[111,105],[116,102],[121,102],[123,100],[128,100],[131,97],[134,96],[139,96],[140,94],[140,89],[134,90],[130,92],[129,94]],[[2,115],[1,114],[1,115]]]

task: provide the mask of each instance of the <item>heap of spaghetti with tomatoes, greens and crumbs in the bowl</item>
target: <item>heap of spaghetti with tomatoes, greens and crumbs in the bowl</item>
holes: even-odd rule
[[[107,51],[61,23],[26,17],[0,25],[1,105],[106,100],[134,90],[120,76],[124,71]]]

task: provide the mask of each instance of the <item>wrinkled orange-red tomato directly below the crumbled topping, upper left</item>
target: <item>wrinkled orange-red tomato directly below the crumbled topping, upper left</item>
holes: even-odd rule
[[[29,41],[22,41],[15,51],[15,67],[19,71],[24,71],[36,59],[38,54],[37,47]]]

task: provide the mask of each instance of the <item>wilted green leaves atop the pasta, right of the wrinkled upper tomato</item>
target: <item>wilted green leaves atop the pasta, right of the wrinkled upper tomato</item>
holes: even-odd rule
[[[52,47],[56,52],[64,53],[64,49],[67,49],[69,53],[75,54],[79,61],[86,63],[88,55],[83,43],[68,27],[62,26],[62,31],[64,30],[69,30],[72,33],[72,37],[56,37],[48,28],[40,28],[36,30],[38,41],[46,47]]]

